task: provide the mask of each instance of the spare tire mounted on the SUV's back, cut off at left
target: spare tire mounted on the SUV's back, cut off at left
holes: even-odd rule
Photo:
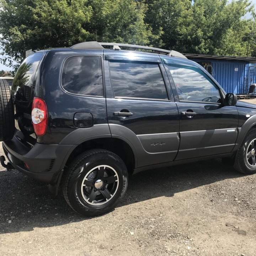
[[[14,104],[10,86],[6,80],[0,79],[0,141],[12,139],[15,128],[14,122]]]

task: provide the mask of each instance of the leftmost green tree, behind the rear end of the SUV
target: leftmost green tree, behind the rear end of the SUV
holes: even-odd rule
[[[28,49],[86,41],[92,8],[87,0],[0,0],[1,46],[20,62]]]

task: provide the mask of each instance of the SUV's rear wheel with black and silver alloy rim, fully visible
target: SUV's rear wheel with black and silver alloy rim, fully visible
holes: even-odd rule
[[[86,151],[71,162],[63,180],[63,194],[69,206],[84,216],[112,210],[128,185],[123,160],[111,151]]]

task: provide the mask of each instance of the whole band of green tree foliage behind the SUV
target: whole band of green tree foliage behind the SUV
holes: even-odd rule
[[[0,0],[1,48],[17,62],[28,49],[96,39],[256,56],[255,17],[249,0]]]

